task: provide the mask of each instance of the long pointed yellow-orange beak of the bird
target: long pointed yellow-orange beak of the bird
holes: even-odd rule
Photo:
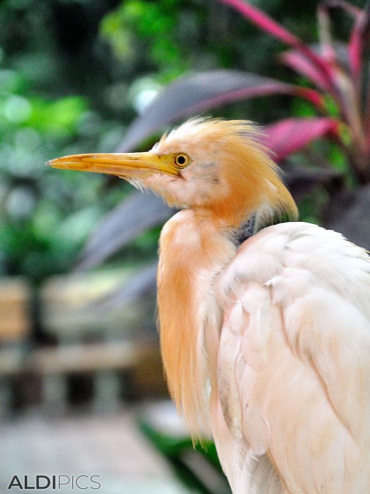
[[[48,161],[47,165],[67,170],[108,173],[121,178],[145,178],[154,173],[179,176],[172,154],[160,156],[151,152],[73,154],[55,158]]]

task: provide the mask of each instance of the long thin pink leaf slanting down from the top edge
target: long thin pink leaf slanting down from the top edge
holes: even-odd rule
[[[297,36],[294,36],[294,34],[274,21],[272,17],[244,0],[218,0],[218,2],[229,5],[240,12],[244,17],[246,17],[246,19],[251,21],[256,26],[300,51],[313,64],[315,64],[319,70],[321,70],[323,77],[327,80],[327,83],[329,85],[331,84],[330,70],[328,64],[322,59],[322,57],[316,54],[315,51],[311,50],[310,47],[304,44],[303,41]]]

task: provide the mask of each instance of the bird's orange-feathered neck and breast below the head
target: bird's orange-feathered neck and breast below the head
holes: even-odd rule
[[[230,237],[191,209],[163,227],[158,269],[162,360],[170,393],[194,436],[207,422],[206,327],[218,328],[213,280],[235,256]],[[215,320],[210,321],[212,316]],[[215,329],[217,330],[217,329]]]

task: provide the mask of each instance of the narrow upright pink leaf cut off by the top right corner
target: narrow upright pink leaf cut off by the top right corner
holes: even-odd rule
[[[362,55],[370,37],[370,2],[357,16],[348,45],[349,64],[355,81],[362,70]]]

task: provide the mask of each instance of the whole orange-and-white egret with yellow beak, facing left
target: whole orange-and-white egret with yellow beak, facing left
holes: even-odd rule
[[[298,221],[261,132],[194,117],[147,152],[48,164],[117,175],[180,209],[159,240],[162,361],[233,494],[366,494],[369,256]]]

